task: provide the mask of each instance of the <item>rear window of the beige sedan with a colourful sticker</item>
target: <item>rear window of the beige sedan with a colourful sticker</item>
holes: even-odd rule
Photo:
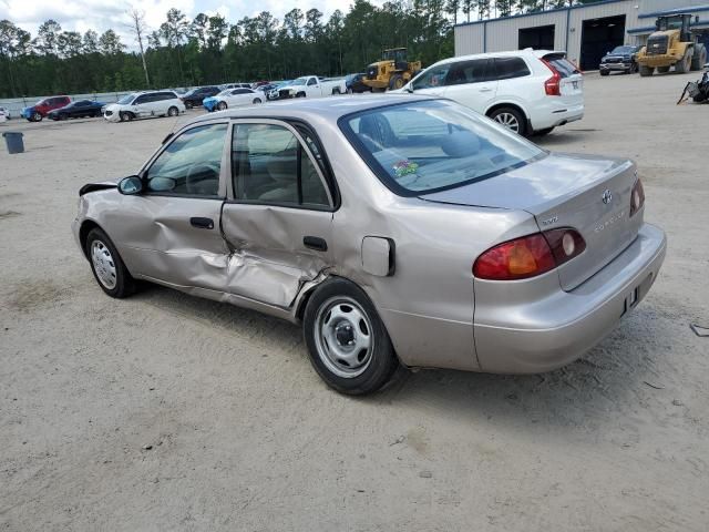
[[[404,196],[489,178],[546,154],[473,111],[442,100],[347,115],[340,127],[379,178]]]

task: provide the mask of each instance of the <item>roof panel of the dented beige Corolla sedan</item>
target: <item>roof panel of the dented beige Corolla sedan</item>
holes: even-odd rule
[[[327,96],[314,99],[294,99],[271,102],[266,105],[255,105],[243,109],[227,109],[217,113],[203,114],[192,120],[185,125],[193,125],[207,122],[222,116],[229,119],[323,119],[337,122],[346,114],[366,111],[368,109],[395,105],[397,103],[421,102],[436,100],[431,96],[419,96],[412,94],[372,94],[361,96]]]

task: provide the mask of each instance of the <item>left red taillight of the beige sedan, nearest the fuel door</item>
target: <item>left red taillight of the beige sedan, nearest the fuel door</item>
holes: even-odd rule
[[[475,259],[473,275],[490,280],[526,279],[561,266],[584,249],[586,242],[577,231],[551,229],[487,249]]]

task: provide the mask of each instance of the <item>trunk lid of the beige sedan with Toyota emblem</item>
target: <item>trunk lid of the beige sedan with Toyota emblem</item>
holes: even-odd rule
[[[558,268],[562,288],[572,290],[615,258],[637,236],[643,213],[630,218],[637,180],[627,160],[552,154],[523,167],[422,200],[522,209],[542,231],[572,227],[586,249]]]

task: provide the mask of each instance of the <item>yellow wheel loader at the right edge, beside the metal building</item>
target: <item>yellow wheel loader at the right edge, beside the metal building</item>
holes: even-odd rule
[[[647,44],[637,55],[640,75],[653,75],[655,69],[665,73],[672,65],[678,73],[700,70],[703,66],[707,62],[707,49],[691,32],[690,22],[689,13],[657,18],[656,31],[647,38]]]

